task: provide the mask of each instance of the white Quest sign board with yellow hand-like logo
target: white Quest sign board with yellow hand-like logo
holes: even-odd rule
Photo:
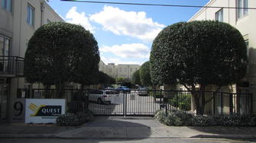
[[[65,114],[66,100],[26,99],[25,123],[56,122],[58,116]]]

